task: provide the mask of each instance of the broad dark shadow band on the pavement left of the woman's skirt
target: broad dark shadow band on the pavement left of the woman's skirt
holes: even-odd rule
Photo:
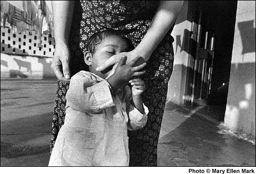
[[[1,157],[16,158],[49,152],[51,116],[49,112],[1,122]]]

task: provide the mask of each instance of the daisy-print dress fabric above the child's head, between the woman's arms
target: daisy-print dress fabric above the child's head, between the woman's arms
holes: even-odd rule
[[[151,24],[158,1],[81,1],[81,42],[86,51],[87,38],[98,31],[119,30],[137,46]]]

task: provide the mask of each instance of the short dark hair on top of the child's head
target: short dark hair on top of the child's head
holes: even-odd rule
[[[105,31],[100,31],[97,33],[94,33],[92,36],[89,37],[88,42],[87,42],[87,51],[90,53],[94,54],[95,53],[95,48],[96,46],[101,43],[101,41],[104,40],[104,38],[109,37],[109,36],[116,36],[119,37],[123,40],[126,41],[128,44],[128,49],[127,51],[132,51],[134,49],[134,46],[129,40],[129,38],[125,37],[123,33],[117,31],[117,30],[105,30]]]

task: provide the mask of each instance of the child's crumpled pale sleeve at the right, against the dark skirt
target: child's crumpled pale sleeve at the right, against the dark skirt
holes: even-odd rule
[[[128,130],[137,130],[145,126],[148,120],[149,109],[143,104],[144,113],[141,113],[136,107],[131,104],[132,92],[129,87],[126,87],[126,112],[128,115]]]

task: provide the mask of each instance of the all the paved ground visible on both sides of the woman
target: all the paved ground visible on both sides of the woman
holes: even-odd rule
[[[47,166],[56,89],[55,80],[1,78],[1,166]],[[255,145],[227,134],[221,111],[167,102],[158,165],[255,166]]]

